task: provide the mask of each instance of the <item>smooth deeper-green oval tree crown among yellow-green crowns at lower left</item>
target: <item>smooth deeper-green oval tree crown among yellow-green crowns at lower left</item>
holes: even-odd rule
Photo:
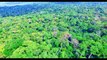
[[[13,53],[13,51],[15,51],[19,46],[22,45],[22,43],[23,43],[23,39],[12,39],[12,40],[10,40],[4,46],[3,53],[6,56],[10,56]]]

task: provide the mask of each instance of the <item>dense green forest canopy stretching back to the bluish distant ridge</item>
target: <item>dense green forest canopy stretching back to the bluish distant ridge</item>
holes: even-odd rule
[[[0,8],[0,58],[107,58],[106,3],[34,6]]]

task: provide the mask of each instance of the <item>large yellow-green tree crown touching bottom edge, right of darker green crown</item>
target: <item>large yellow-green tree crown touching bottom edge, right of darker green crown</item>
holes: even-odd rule
[[[24,41],[23,44],[13,52],[10,58],[34,58],[33,52],[37,49],[36,46],[37,44],[35,42]]]

